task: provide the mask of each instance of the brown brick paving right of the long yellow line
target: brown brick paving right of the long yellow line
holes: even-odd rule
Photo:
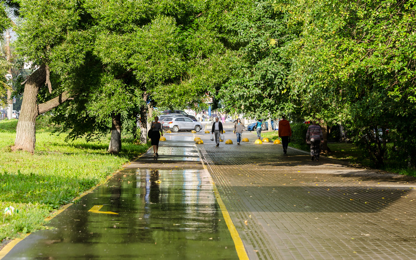
[[[209,135],[197,147],[250,259],[416,259],[414,178]]]

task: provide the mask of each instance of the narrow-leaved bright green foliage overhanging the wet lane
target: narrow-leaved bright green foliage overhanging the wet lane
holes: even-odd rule
[[[73,129],[71,137],[82,135],[82,128],[101,131],[112,113],[122,114],[135,131],[137,114],[146,124],[153,105],[196,107],[227,74],[230,55],[208,28],[204,1],[90,0],[82,9],[96,59],[89,68],[97,80],[77,105],[67,104],[55,116],[63,129]],[[76,125],[78,114],[87,127]]]

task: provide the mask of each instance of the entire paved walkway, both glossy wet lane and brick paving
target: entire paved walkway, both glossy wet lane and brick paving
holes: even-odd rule
[[[159,158],[126,165],[5,259],[237,259],[212,180],[251,260],[416,259],[414,178],[283,154],[247,132],[219,147],[195,135],[166,134]]]

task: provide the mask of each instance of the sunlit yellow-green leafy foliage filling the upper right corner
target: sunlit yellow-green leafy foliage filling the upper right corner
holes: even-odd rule
[[[415,165],[416,135],[409,131],[415,125],[414,6],[404,0],[275,5],[289,15],[288,26],[302,26],[299,38],[286,46],[291,99],[302,114],[348,122],[377,165],[383,164],[388,138],[382,129],[406,133],[394,142]]]

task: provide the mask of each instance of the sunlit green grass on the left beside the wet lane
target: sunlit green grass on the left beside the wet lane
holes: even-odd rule
[[[47,119],[41,118],[35,153],[12,152],[17,122],[0,121],[0,241],[42,229],[52,210],[103,182],[149,147],[123,139],[122,152],[108,154],[108,137],[96,142],[65,142],[66,135],[52,134]],[[8,206],[19,212],[5,214]]]

